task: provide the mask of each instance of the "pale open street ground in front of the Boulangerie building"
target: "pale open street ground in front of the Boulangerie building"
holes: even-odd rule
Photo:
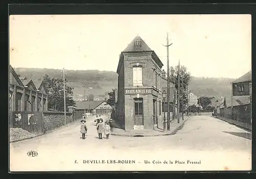
[[[106,116],[103,116],[106,119]],[[80,123],[10,143],[11,171],[250,170],[250,133],[212,116],[192,116],[175,135],[110,136],[98,139],[93,117],[81,139]],[[28,157],[28,151],[37,157]],[[135,160],[135,164],[91,164],[83,160]],[[151,161],[150,164],[145,164]],[[152,162],[154,161],[155,162]],[[178,161],[164,165],[163,161]],[[201,164],[187,164],[201,161]],[[156,161],[160,162],[159,164]],[[179,161],[185,161],[185,164]]]

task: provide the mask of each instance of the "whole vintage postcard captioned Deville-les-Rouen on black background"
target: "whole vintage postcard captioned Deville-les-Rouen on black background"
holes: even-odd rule
[[[250,15],[10,15],[10,171],[251,170]]]

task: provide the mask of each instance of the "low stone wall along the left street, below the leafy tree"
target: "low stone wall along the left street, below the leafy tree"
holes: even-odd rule
[[[64,116],[63,112],[43,112],[44,133],[65,125]],[[66,124],[70,122],[73,122],[73,115],[70,112],[66,112]]]

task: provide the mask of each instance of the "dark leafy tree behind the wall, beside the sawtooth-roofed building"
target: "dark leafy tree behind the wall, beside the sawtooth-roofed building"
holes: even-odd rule
[[[50,78],[48,74],[45,75],[43,79],[47,90],[48,90],[48,107],[58,111],[64,111],[64,90],[63,90],[63,80],[57,78]],[[65,79],[65,82],[68,82]],[[72,97],[73,88],[65,85],[66,94],[66,108],[68,106],[75,106],[76,103]],[[67,109],[66,109],[67,110]]]

